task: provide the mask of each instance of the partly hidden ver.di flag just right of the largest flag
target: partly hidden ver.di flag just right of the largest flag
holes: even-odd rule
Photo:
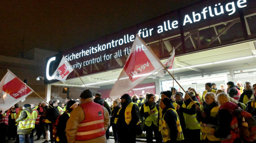
[[[163,62],[163,65],[167,68],[167,69],[172,69],[173,68],[173,63],[174,63],[174,57],[175,57],[175,49],[173,49],[173,54],[172,56],[170,56],[165,62]],[[164,67],[162,67],[158,73],[156,74],[156,77],[164,77],[165,73],[166,73],[166,69]]]

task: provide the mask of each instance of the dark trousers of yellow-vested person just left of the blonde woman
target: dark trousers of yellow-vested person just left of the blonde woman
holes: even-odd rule
[[[188,143],[200,142],[200,129],[190,130],[186,129],[186,137]]]

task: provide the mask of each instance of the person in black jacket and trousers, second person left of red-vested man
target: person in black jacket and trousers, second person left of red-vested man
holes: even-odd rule
[[[52,124],[55,123],[57,117],[59,116],[59,110],[58,110],[58,102],[55,100],[52,102],[53,108],[49,108],[46,112],[46,119],[48,119],[51,123],[47,123],[49,125],[49,131],[50,131],[50,139],[51,142],[54,142],[53,134],[52,134]]]

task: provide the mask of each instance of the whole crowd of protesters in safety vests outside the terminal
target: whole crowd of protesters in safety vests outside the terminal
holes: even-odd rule
[[[107,142],[112,127],[115,142],[136,142],[143,130],[146,142],[247,142],[240,137],[234,110],[256,116],[256,84],[227,89],[206,83],[205,91],[189,87],[186,93],[175,88],[157,94],[123,94],[119,100],[103,100],[87,89],[80,100],[41,102],[37,106],[15,104],[0,116],[0,140],[33,142]],[[154,132],[154,134],[153,134]],[[252,140],[253,142],[253,140]]]

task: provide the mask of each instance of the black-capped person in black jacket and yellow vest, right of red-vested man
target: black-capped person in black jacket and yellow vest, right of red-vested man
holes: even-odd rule
[[[136,104],[132,105],[132,110],[127,108],[130,107],[132,102],[129,94],[124,94],[121,97],[122,107],[118,114],[118,138],[121,143],[123,142],[136,142],[136,124],[140,120],[140,109]],[[132,103],[131,103],[132,104]],[[125,110],[127,108],[127,110]],[[127,116],[127,118],[125,118]],[[132,117],[132,119],[130,118]]]

